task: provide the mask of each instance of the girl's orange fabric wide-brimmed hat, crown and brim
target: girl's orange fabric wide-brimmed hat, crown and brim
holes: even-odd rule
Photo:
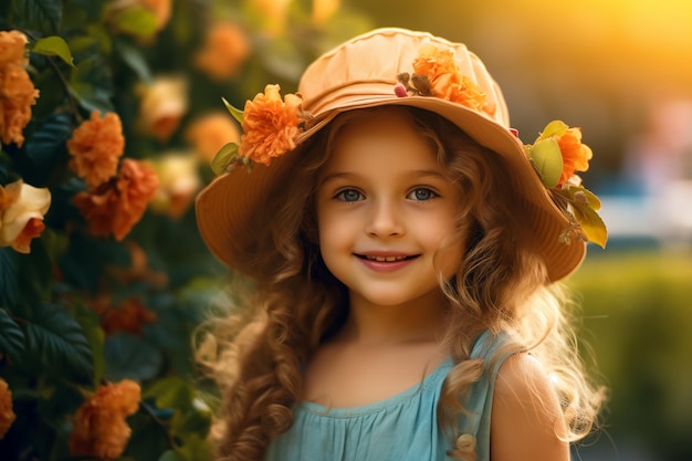
[[[276,92],[277,87],[268,86],[266,94],[259,96],[276,103]],[[295,147],[339,113],[384,105],[413,106],[439,114],[506,161],[512,171],[507,180],[526,203],[517,212],[525,214],[551,281],[563,279],[583,261],[586,242],[566,237],[576,221],[565,207],[554,202],[554,195],[527,157],[526,146],[510,128],[500,87],[465,45],[426,32],[375,30],[314,61],[300,81],[297,96],[291,95],[290,101],[286,96],[285,105],[294,108],[300,118],[289,123],[293,132],[283,142],[285,147],[268,155],[243,146],[251,143],[250,137],[241,139],[240,157],[234,160],[255,160],[251,171],[239,167],[243,161],[235,161],[234,168],[216,178],[197,199],[202,238],[212,253],[232,269],[262,275],[253,265],[253,252],[259,251],[258,232],[249,223],[266,208],[271,186],[290,175],[300,155]],[[243,128],[252,129],[251,122],[243,122]],[[276,139],[273,143],[275,148]]]

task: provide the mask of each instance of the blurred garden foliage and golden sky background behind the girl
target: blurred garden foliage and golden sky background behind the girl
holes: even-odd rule
[[[0,459],[66,458],[85,389],[124,378],[143,385],[124,457],[206,459],[196,448],[213,391],[188,338],[223,304],[228,274],[199,239],[192,200],[239,136],[221,97],[242,107],[266,83],[293,93],[312,59],[374,27],[465,43],[526,143],[552,119],[581,127],[594,150],[581,176],[610,235],[567,283],[609,401],[575,459],[692,459],[691,24],[686,0],[8,0],[0,30],[25,32],[30,49],[59,35],[75,66],[31,53],[41,95],[27,142],[0,156],[0,184],[53,196],[30,254],[0,248],[0,377],[18,415]],[[156,166],[156,196],[125,237],[97,235],[72,201],[87,187],[64,144],[93,109],[119,115],[124,158]],[[45,306],[63,326],[42,323]]]

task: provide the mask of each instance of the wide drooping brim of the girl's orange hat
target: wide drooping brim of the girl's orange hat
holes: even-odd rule
[[[523,212],[531,223],[531,232],[539,240],[538,248],[549,281],[560,280],[579,266],[586,254],[586,243],[577,239],[569,243],[560,241],[559,235],[569,228],[569,221],[549,198],[526,158],[521,140],[479,112],[437,97],[373,95],[350,98],[347,104],[315,115],[311,127],[297,142],[304,143],[339,113],[384,105],[406,105],[439,114],[480,145],[497,153],[513,172],[507,178],[513,190],[527,203]],[[256,229],[250,223],[255,222],[253,214],[265,208],[264,201],[272,185],[291,169],[295,154],[293,150],[275,158],[270,167],[254,165],[251,172],[245,168],[234,168],[216,178],[198,195],[196,212],[200,233],[211,252],[230,268],[253,277],[263,275],[261,269],[253,264],[259,242]]]

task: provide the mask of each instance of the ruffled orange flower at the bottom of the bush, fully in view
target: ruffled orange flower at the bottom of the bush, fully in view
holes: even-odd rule
[[[139,385],[129,379],[99,387],[74,416],[70,452],[99,460],[118,458],[132,433],[125,418],[137,411],[140,399]]]

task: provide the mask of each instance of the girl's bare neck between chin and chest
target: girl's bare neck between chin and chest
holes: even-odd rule
[[[337,337],[364,346],[439,342],[448,305],[442,292],[396,306],[375,305],[352,293],[348,318]]]

